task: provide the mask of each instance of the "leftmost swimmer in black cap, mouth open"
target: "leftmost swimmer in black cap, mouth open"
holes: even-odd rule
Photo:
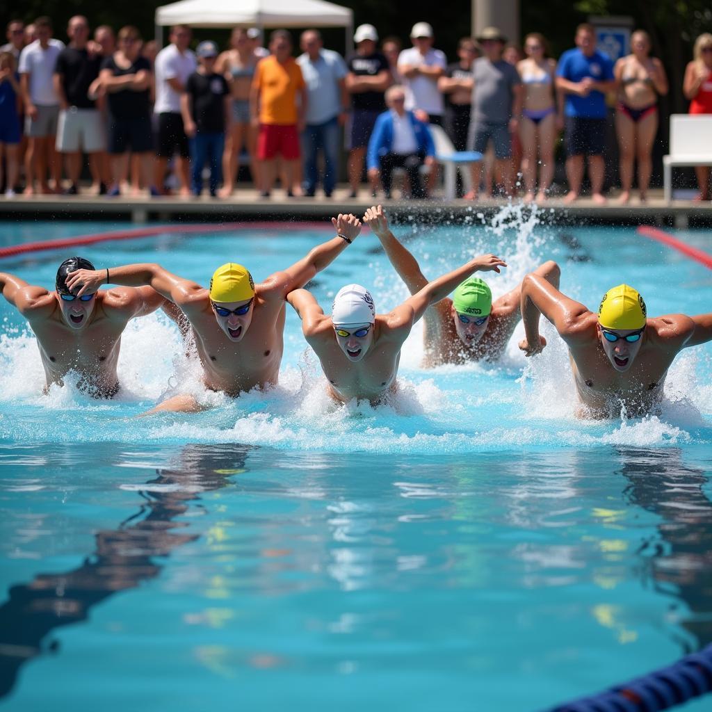
[[[94,266],[81,257],[66,259],[53,292],[0,272],[0,292],[37,337],[45,392],[53,383],[63,385],[63,378],[74,371],[80,376],[80,390],[95,398],[111,398],[119,390],[116,364],[123,330],[132,318],[154,312],[165,300],[150,287],[99,291],[96,286],[78,295],[67,285],[68,275],[77,269]]]

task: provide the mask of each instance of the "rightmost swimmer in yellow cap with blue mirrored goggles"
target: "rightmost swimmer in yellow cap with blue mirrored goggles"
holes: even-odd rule
[[[686,347],[712,340],[712,314],[669,314],[648,318],[643,298],[621,284],[604,294],[598,313],[562,294],[539,275],[522,287],[527,356],[546,345],[539,335],[539,315],[553,325],[569,348],[580,417],[616,417],[625,406],[640,417],[662,400],[667,371]]]

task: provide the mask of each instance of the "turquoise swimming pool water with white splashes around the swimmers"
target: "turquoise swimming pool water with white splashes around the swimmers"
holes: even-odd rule
[[[115,228],[1,224],[0,246]],[[592,307],[627,281],[651,314],[709,310],[712,273],[633,229],[394,231],[430,277],[498,253],[495,295],[554,258],[562,290]],[[234,259],[259,280],[329,234],[248,226],[79,253],[201,283]],[[323,305],[351,281],[381,312],[405,298],[376,248],[365,231],[317,276]],[[69,255],[0,270],[51,286]],[[162,316],[127,329],[115,402],[41,395],[33,338],[4,302],[0,320],[8,708],[535,711],[712,642],[709,347],[676,361],[660,414],[581,422],[548,325],[534,360],[519,328],[501,363],[431,371],[417,328],[392,402],[336,408],[288,313],[278,387],[134,419],[199,389]]]

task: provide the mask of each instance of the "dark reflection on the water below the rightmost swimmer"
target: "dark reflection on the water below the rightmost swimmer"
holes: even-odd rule
[[[659,537],[639,550],[649,557],[652,580],[664,595],[679,597],[689,614],[681,626],[699,648],[712,643],[712,503],[706,473],[687,466],[682,451],[621,449],[629,501],[661,519]],[[689,639],[680,641],[692,652]]]

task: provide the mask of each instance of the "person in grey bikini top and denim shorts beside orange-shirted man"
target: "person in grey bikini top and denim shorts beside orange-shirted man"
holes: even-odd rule
[[[236,27],[230,39],[231,49],[223,52],[215,64],[216,72],[228,80],[232,96],[231,130],[225,142],[223,156],[224,187],[222,197],[229,197],[235,187],[239,156],[245,147],[250,157],[253,182],[258,183],[255,148],[257,131],[250,121],[250,87],[258,58],[253,43],[244,28]]]

